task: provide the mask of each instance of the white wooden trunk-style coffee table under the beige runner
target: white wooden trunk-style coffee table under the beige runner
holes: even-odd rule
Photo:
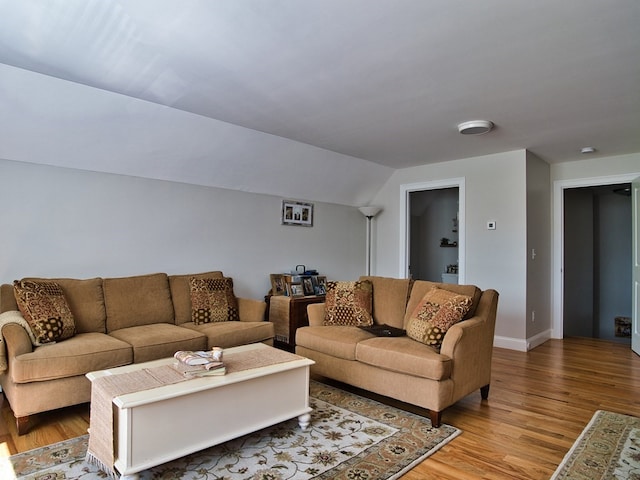
[[[225,350],[270,349],[262,343]],[[256,353],[256,352],[253,352]],[[298,417],[308,427],[309,366],[306,358],[265,367],[198,377],[184,382],[129,393],[113,399],[114,459],[121,478],[193,452]],[[87,374],[93,381],[105,375],[170,365],[167,358]]]

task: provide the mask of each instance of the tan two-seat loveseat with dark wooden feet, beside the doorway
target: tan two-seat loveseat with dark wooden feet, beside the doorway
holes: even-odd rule
[[[442,411],[480,389],[489,394],[498,293],[473,285],[361,277],[373,285],[373,321],[405,329],[433,287],[468,295],[472,306],[446,331],[441,349],[408,336],[379,337],[357,326],[325,325],[325,304],[307,308],[309,326],[296,332],[296,353],[315,361],[314,374],[429,409],[441,424]]]

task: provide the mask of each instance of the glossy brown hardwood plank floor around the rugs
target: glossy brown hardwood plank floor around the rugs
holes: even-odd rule
[[[640,357],[627,345],[570,338],[527,353],[496,348],[489,400],[477,392],[447,409],[443,422],[463,434],[402,480],[548,479],[596,410],[640,416],[639,391]],[[86,405],[71,407],[40,415],[18,437],[6,402],[1,414],[0,456],[82,435],[89,422]]]

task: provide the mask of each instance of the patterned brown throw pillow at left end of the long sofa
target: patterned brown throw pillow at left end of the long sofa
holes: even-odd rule
[[[73,314],[56,282],[16,280],[13,292],[38,343],[56,342],[75,334]]]

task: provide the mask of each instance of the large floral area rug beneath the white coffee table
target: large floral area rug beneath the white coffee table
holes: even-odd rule
[[[311,382],[310,405],[305,431],[293,419],[141,472],[140,478],[396,479],[461,433],[318,382]],[[0,478],[104,479],[85,461],[87,442],[85,435],[2,459]]]

